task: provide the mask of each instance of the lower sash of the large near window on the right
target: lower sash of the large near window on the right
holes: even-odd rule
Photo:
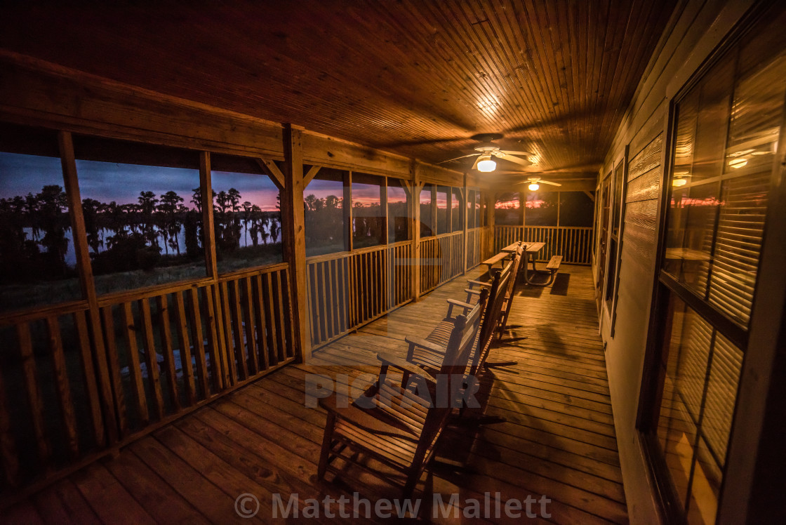
[[[681,505],[714,523],[742,351],[672,296],[658,440]]]

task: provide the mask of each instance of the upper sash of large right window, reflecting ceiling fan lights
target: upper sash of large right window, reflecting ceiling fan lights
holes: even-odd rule
[[[740,53],[678,104],[663,270],[746,328],[783,119],[786,53],[738,77]]]

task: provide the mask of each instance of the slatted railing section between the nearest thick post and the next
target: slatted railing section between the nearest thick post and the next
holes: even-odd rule
[[[410,241],[307,259],[311,343],[343,336],[412,299]]]

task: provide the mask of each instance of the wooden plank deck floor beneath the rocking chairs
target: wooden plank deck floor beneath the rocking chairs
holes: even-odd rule
[[[495,493],[503,505],[510,498],[545,495],[549,522],[627,522],[592,278],[585,266],[563,269],[553,287],[519,288],[511,334],[490,356],[490,361],[518,362],[488,370],[482,381],[485,415],[504,422],[450,428],[437,464],[419,487],[428,483],[427,494],[439,494],[443,501],[458,494],[460,515],[472,512],[471,498],[477,499],[481,516],[489,514],[480,523],[520,523],[505,516],[504,506],[501,517],[494,516]],[[364,479],[362,486],[317,481],[325,413],[305,406],[305,376],[376,373],[376,351],[405,353],[404,336],[427,335],[445,313],[444,299],[461,296],[464,279],[331,343],[309,365],[290,365],[135,442],[119,457],[83,468],[9,508],[0,521],[272,523],[272,494],[285,502],[298,494],[301,512],[309,498],[323,501],[326,495],[352,498],[358,491],[358,497],[372,501],[399,497],[375,479]],[[465,468],[451,467],[456,464]],[[253,519],[237,515],[240,494],[258,499]],[[453,511],[444,517],[431,496],[423,500],[421,516],[437,523],[466,521],[454,518]],[[339,512],[337,505],[331,509]],[[362,503],[359,510],[365,512]],[[539,503],[531,510],[536,521],[547,517]],[[351,504],[347,511],[352,512]],[[324,506],[319,516],[301,515],[292,523],[331,521]]]

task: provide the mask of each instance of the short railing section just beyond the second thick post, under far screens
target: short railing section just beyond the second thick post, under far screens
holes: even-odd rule
[[[421,292],[464,273],[464,232],[421,239]]]

